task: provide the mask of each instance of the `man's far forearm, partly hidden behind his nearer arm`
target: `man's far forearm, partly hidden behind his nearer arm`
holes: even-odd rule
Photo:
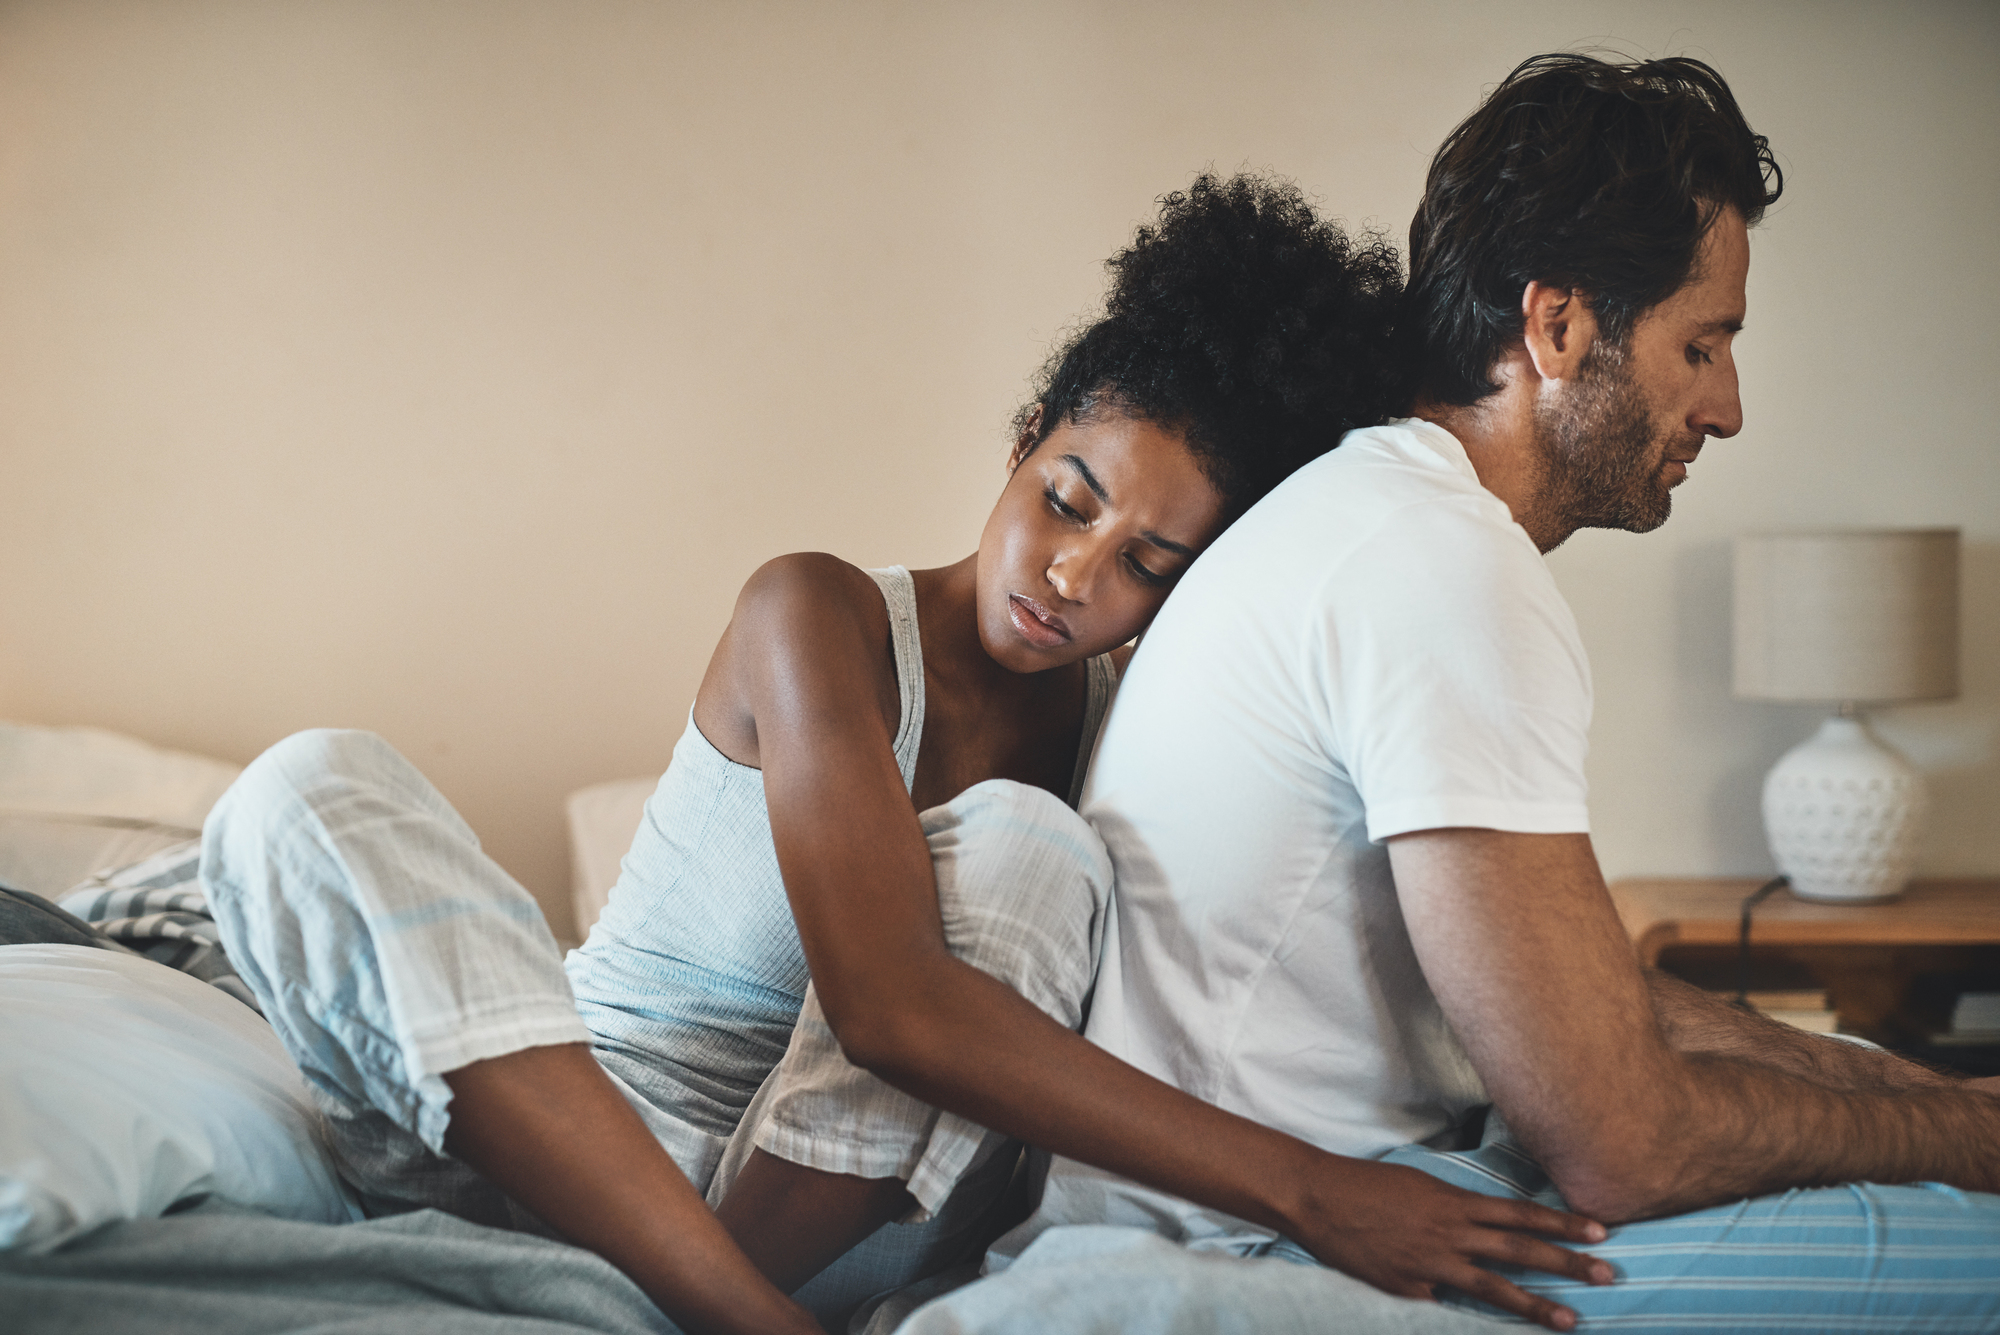
[[[1954,1089],[1960,1083],[1892,1053],[1804,1033],[1658,969],[1646,971],[1646,983],[1660,1033],[1682,1053],[1714,1053],[1766,1065],[1852,1093]]]

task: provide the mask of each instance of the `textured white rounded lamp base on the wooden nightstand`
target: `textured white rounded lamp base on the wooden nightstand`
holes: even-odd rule
[[[1764,779],[1764,833],[1792,893],[1894,899],[1910,881],[1928,799],[1916,767],[1858,717],[1830,717]]]

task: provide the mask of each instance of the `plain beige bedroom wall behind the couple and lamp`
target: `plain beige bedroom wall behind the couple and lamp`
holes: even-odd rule
[[[1152,198],[1400,234],[1514,60],[1718,64],[1788,170],[1748,428],[1554,568],[1612,873],[1762,871],[1812,711],[1728,699],[1726,542],[1958,524],[1966,695],[1884,725],[2000,871],[1990,4],[0,6],[0,717],[412,755],[558,927],[558,801],[658,769],[764,558],[962,556]]]

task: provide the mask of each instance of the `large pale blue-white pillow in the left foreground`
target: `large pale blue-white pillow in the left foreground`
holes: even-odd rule
[[[242,1001],[142,955],[0,945],[0,1251],[220,1195],[346,1223],[298,1067]]]

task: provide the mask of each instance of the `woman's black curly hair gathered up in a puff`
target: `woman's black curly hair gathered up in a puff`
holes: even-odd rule
[[[1342,432],[1400,412],[1402,260],[1350,240],[1296,186],[1202,174],[1112,256],[1104,318],[1060,348],[1014,416],[1022,454],[1118,412],[1180,432],[1234,520]]]

